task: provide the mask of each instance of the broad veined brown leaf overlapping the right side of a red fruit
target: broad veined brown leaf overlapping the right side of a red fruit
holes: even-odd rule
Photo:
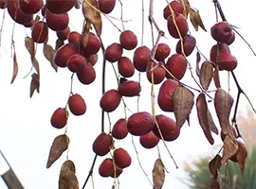
[[[185,87],[178,87],[174,90],[174,115],[178,129],[190,116],[193,103],[193,94],[190,90]]]

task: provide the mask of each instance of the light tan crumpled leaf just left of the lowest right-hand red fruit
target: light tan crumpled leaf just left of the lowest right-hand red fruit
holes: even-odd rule
[[[232,139],[230,139],[229,135],[227,135],[224,139],[224,146],[223,146],[223,155],[221,159],[221,163],[226,163],[229,158],[235,155],[238,149],[237,143],[235,143]]]

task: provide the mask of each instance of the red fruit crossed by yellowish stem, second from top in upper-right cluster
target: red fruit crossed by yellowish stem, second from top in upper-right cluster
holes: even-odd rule
[[[183,16],[180,13],[178,13],[178,14],[175,14],[174,19],[175,19],[176,25],[177,25],[177,27],[179,29],[181,37],[182,38],[185,37],[186,34],[189,31],[189,25],[188,25],[188,22],[187,22],[185,16]],[[168,19],[167,19],[167,27],[168,27],[168,31],[169,31],[170,35],[173,38],[178,39],[179,35],[178,35],[177,29],[176,29],[176,27],[174,25],[174,21],[173,21],[173,17],[172,16],[169,16]]]

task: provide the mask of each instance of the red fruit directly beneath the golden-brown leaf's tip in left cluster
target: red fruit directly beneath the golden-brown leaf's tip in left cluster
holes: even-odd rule
[[[100,39],[92,32],[89,33],[89,39],[86,46],[83,45],[83,40],[81,40],[82,52],[84,55],[93,55],[98,53],[101,48]]]

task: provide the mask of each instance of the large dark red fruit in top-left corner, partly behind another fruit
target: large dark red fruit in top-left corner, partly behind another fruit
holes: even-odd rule
[[[19,6],[19,0],[8,0],[7,9],[12,20],[20,25],[24,25],[33,19],[32,14],[25,14],[22,12]]]

